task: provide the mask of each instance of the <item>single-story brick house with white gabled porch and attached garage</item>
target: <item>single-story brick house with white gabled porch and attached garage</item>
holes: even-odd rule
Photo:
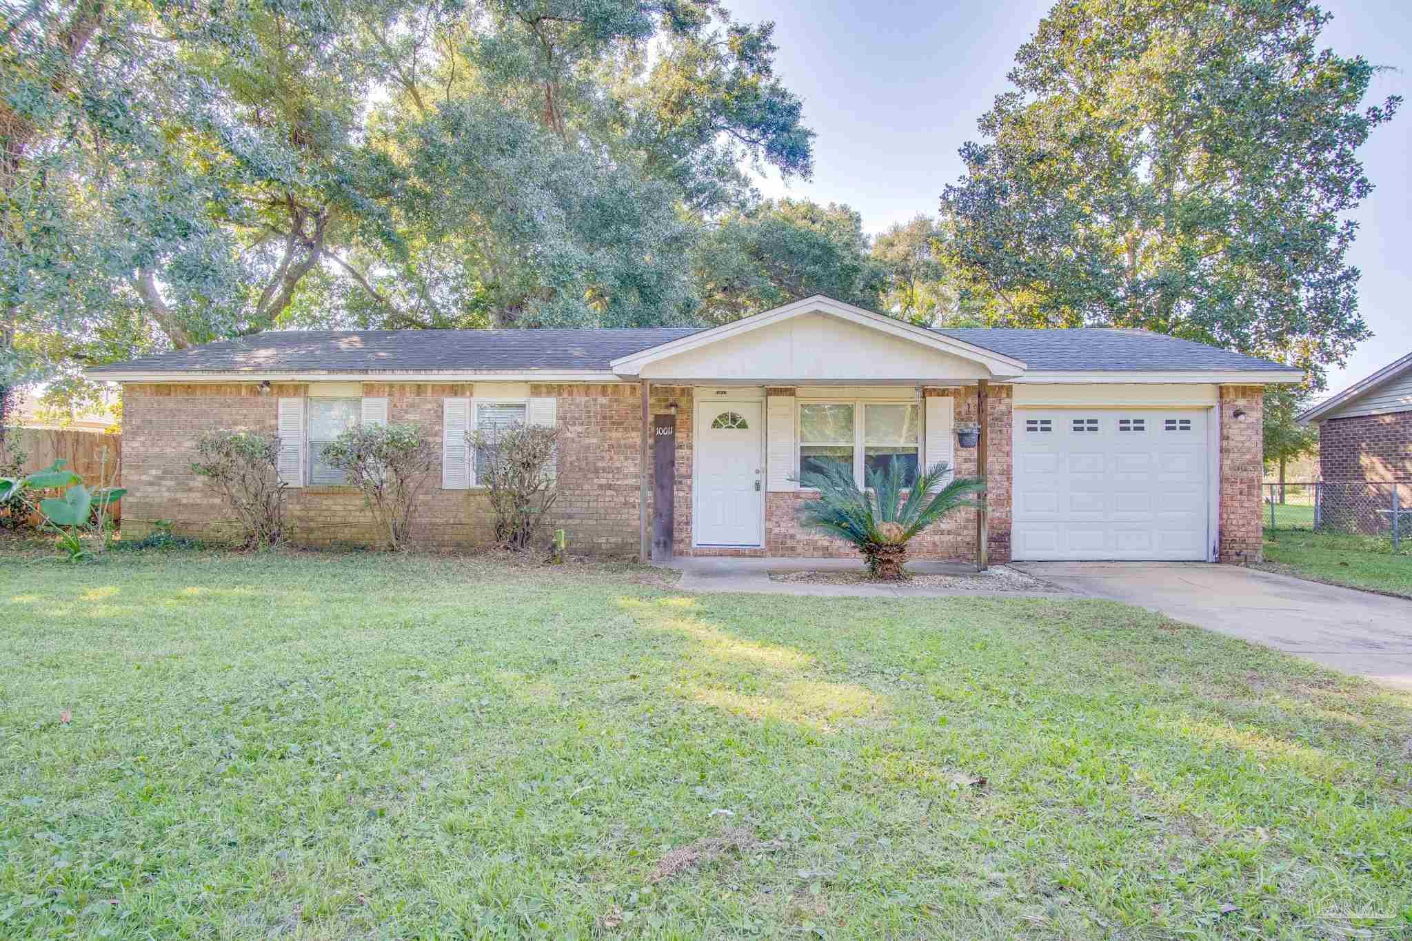
[[[491,538],[466,432],[556,425],[570,550],[657,557],[853,556],[802,529],[795,478],[825,461],[936,461],[987,508],[918,557],[1244,561],[1261,553],[1261,391],[1298,370],[1138,330],[940,330],[813,296],[707,330],[261,333],[93,368],[123,387],[124,530],[217,533],[196,437],[280,436],[306,545],[374,538],[319,447],[353,422],[441,443],[415,533]],[[977,440],[979,439],[979,440]]]

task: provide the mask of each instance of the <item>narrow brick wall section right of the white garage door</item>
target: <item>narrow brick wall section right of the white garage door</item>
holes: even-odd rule
[[[1245,564],[1262,559],[1261,480],[1265,471],[1260,385],[1223,385],[1221,411],[1221,501],[1217,559]],[[1244,412],[1236,418],[1236,412]]]

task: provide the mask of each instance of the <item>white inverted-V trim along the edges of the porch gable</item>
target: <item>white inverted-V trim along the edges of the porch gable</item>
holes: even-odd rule
[[[826,298],[818,293],[812,298],[805,298],[803,300],[795,300],[794,303],[775,308],[774,310],[765,310],[712,330],[702,330],[700,333],[693,333],[690,336],[681,337],[679,340],[648,347],[647,350],[633,353],[631,356],[618,357],[609,365],[611,365],[613,371],[618,375],[638,375],[642,371],[642,367],[650,363],[657,363],[658,360],[679,356],[713,343],[720,343],[722,340],[751,333],[753,330],[768,327],[774,323],[782,323],[806,313],[826,313],[842,320],[873,327],[894,337],[912,340],[914,343],[919,343],[921,346],[932,350],[973,360],[990,370],[991,375],[1011,377],[1021,375],[1025,371],[1022,360],[1001,356],[971,343],[953,340],[942,333],[918,327],[911,323],[904,323],[895,317],[873,313],[871,310],[864,310],[863,308],[856,308],[851,303],[843,303],[842,300],[834,300],[833,298]]]

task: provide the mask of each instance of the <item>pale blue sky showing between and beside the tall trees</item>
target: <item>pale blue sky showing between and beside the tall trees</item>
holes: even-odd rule
[[[815,174],[788,186],[762,179],[765,196],[847,203],[878,233],[918,213],[935,214],[942,189],[964,166],[957,148],[979,140],[976,119],[1008,87],[1015,49],[1052,3],[1010,0],[726,0],[738,20],[775,23],[777,72],[803,99],[818,131]],[[1360,224],[1348,261],[1363,272],[1358,308],[1374,337],[1330,391],[1412,351],[1412,3],[1327,0],[1334,14],[1323,45],[1391,66],[1367,104],[1408,99],[1360,151],[1375,189],[1353,213]]]

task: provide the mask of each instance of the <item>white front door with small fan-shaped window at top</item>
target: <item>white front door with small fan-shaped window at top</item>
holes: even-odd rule
[[[760,546],[764,516],[764,408],[702,402],[696,409],[698,546]]]

